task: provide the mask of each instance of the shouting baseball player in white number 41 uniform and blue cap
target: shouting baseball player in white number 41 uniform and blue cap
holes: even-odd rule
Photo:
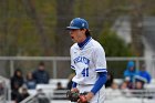
[[[86,20],[75,18],[66,30],[75,42],[70,49],[71,68],[75,70],[71,91],[86,92],[78,103],[104,103],[107,74],[104,49],[92,39]]]

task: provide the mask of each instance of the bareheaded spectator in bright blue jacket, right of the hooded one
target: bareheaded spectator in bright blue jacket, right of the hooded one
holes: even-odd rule
[[[151,83],[152,76],[151,74],[146,71],[145,65],[142,65],[141,70],[138,71],[138,76],[145,79],[146,83]]]

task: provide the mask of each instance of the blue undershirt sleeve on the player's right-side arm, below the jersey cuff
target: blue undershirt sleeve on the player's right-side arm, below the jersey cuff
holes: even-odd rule
[[[95,82],[91,92],[95,94],[105,84],[106,78],[107,78],[107,72],[99,72],[99,79]]]

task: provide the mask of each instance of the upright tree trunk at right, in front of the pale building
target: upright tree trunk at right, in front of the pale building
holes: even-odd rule
[[[140,0],[132,0],[133,9],[131,10],[131,25],[132,25],[132,50],[136,53],[137,56],[143,56],[144,54],[144,44],[143,44],[143,13]]]

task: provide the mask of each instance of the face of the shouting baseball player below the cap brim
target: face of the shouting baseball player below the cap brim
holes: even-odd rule
[[[85,40],[85,30],[80,30],[80,29],[75,29],[75,30],[70,30],[70,35],[71,35],[71,39],[74,41],[74,42],[78,42],[78,43],[81,43]]]

